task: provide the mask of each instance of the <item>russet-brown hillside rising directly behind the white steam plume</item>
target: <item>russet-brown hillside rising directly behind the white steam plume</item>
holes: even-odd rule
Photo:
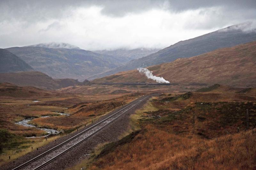
[[[223,84],[240,87],[256,86],[256,41],[220,48],[190,58],[148,67],[155,76],[178,84]],[[138,70],[93,80],[103,82],[155,82]]]

